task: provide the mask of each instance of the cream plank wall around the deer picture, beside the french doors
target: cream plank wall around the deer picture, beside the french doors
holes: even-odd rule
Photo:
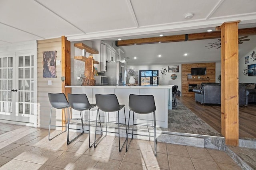
[[[62,61],[62,39],[47,39],[38,41],[38,127],[48,128],[51,105],[48,99],[48,92],[62,92],[62,68],[61,65],[56,66],[56,78],[43,77],[43,51],[57,51],[56,60]],[[60,62],[62,63],[62,62]],[[48,85],[48,80],[52,80],[52,85]],[[52,124],[62,125],[62,111],[53,109]],[[57,128],[61,130],[60,128]]]

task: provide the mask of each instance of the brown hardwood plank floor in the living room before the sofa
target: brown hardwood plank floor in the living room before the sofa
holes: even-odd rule
[[[196,103],[192,96],[177,96],[188,109],[203,119],[208,125],[221,133],[221,107],[220,105]],[[256,104],[247,107],[239,106],[239,138],[256,138]]]

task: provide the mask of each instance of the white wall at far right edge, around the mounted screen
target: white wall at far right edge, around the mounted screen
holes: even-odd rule
[[[253,51],[256,51],[256,47],[249,51],[245,56],[239,57],[239,82],[240,83],[256,83],[256,76],[248,76],[243,74],[244,68],[247,68],[248,65],[250,64],[256,64],[256,61],[253,62],[252,58],[252,53]],[[249,63],[245,64],[244,57],[249,56]]]

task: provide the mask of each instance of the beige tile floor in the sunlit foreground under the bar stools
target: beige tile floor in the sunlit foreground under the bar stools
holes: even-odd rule
[[[52,131],[51,135],[59,132]],[[105,137],[96,148],[89,149],[88,134],[66,145],[66,133],[48,141],[47,129],[0,123],[0,169],[240,169],[220,150],[168,143],[157,143],[156,157],[153,150],[152,141],[133,139],[128,152],[125,148],[119,152],[118,137],[114,136]]]

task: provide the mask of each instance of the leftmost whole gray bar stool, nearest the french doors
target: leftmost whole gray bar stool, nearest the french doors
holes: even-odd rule
[[[49,98],[49,102],[52,105],[51,107],[51,112],[50,112],[50,122],[49,122],[49,133],[48,133],[48,140],[52,140],[55,137],[57,137],[58,135],[64,133],[67,131],[67,126],[58,126],[58,125],[51,125],[51,120],[52,120],[52,108],[55,109],[64,109],[64,114],[65,114],[65,122],[66,122],[66,111],[65,109],[68,109],[70,106],[68,104],[68,100],[65,96],[64,93],[48,93],[48,98]],[[54,136],[52,139],[50,139],[50,128],[54,126],[54,127],[66,127],[65,131],[62,131],[61,133],[59,133],[58,135]]]

